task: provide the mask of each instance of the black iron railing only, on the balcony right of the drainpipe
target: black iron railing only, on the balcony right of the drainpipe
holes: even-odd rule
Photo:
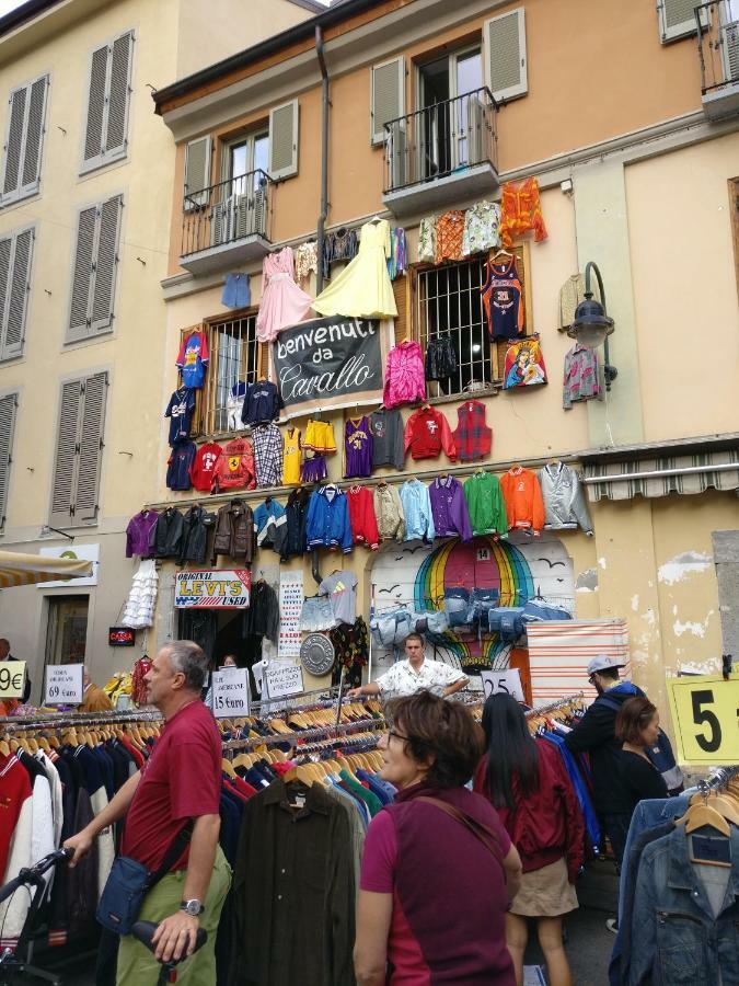
[[[497,175],[495,114],[487,87],[385,124],[384,194],[439,182],[477,165]]]

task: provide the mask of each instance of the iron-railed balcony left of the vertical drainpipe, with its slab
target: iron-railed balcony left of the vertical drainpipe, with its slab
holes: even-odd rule
[[[185,195],[180,264],[208,274],[268,253],[272,188],[258,169]]]

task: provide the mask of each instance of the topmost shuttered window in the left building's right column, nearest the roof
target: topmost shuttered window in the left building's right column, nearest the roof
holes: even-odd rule
[[[127,31],[90,57],[82,172],[126,157],[134,32]]]

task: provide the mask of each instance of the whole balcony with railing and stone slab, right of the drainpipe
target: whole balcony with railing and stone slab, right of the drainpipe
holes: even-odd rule
[[[385,205],[403,215],[494,191],[496,112],[483,87],[385,124]]]

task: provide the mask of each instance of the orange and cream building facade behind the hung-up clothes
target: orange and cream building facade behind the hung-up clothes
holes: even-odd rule
[[[716,670],[736,645],[738,21],[736,0],[696,9],[692,0],[345,0],[154,94],[176,142],[160,403],[176,386],[183,334],[201,331],[211,362],[196,440],[233,437],[232,391],[261,377],[280,382],[275,354],[256,337],[264,257],[385,218],[404,229],[408,264],[393,280],[397,317],[380,323],[383,355],[448,334],[458,368],[429,383],[428,403],[454,429],[461,402],[481,401],[493,445],[480,463],[408,457],[365,482],[465,480],[478,465],[499,475],[519,465],[535,472],[556,460],[588,491],[592,531],[323,555],[320,574],[356,575],[365,618],[394,604],[439,608],[455,584],[498,586],[508,605],[542,595],[582,626],[617,623],[635,679],[662,708],[666,672]],[[489,342],[482,299],[487,252],[435,262],[423,244],[419,254],[419,230],[530,177],[546,237],[515,236],[510,252],[526,336],[540,344],[549,382],[506,389],[509,344]],[[601,400],[565,410],[573,339],[562,331],[562,289],[589,262],[602,275],[617,376]],[[338,270],[322,271],[319,259],[302,287],[314,297]],[[249,278],[241,308],[223,303],[234,273]],[[380,401],[376,391],[361,405],[347,398],[323,411],[339,447],[331,481],[343,479],[346,417]],[[280,425],[289,420],[304,435],[320,403],[302,416],[286,409]],[[414,411],[403,409],[404,422]],[[163,480],[160,469],[153,506],[201,502]],[[254,508],[268,495],[285,504],[288,493],[238,495]],[[277,586],[286,571],[302,572],[310,596],[311,562],[280,565],[262,551],[253,576]],[[217,654],[240,646],[231,614],[200,610],[199,623],[182,616],[177,571],[174,561],[160,571],[158,640],[185,628]],[[495,634],[478,645],[447,634],[435,649],[473,670],[510,660]],[[392,654],[374,646],[372,661],[374,674]],[[528,665],[534,698],[582,687],[581,668],[536,661]]]

